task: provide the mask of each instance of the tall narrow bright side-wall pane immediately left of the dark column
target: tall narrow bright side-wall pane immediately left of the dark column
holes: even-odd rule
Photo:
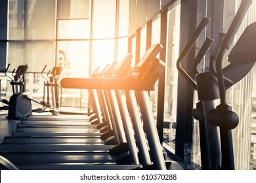
[[[180,8],[169,10],[167,15],[167,56],[165,71],[165,103],[163,142],[175,149],[176,113],[177,113],[177,85],[178,71],[176,61],[179,57],[179,27]]]

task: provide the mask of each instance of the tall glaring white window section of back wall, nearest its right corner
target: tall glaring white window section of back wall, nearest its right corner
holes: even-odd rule
[[[106,8],[108,7],[108,8]],[[114,60],[116,0],[93,1],[92,68]]]

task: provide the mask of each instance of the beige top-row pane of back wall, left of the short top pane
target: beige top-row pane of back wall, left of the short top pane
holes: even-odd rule
[[[26,0],[25,39],[55,39],[55,0]]]

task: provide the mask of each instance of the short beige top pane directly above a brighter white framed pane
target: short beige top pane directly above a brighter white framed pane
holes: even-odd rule
[[[58,19],[89,18],[90,0],[58,0]]]

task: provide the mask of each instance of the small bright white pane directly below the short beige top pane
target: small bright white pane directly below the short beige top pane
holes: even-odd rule
[[[58,39],[89,39],[90,20],[58,20]]]

